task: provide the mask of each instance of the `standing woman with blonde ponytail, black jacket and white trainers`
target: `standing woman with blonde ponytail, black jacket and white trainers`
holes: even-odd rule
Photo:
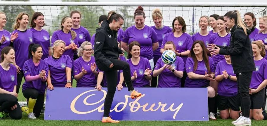
[[[234,73],[237,77],[238,93],[241,101],[242,115],[233,125],[251,125],[249,119],[250,98],[249,84],[252,72],[256,70],[253,61],[252,47],[250,43],[250,30],[244,24],[239,11],[229,11],[224,15],[224,21],[228,29],[231,29],[231,41],[229,46],[216,46],[209,44],[211,55],[230,55]]]

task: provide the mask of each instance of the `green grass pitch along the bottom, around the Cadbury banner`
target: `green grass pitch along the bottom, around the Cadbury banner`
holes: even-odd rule
[[[24,83],[24,80],[23,82]],[[76,81],[73,81],[73,87],[76,87]],[[18,94],[18,101],[25,101],[25,98],[22,94],[22,88],[20,87],[20,92]],[[190,114],[190,113],[188,113]],[[193,113],[191,113],[193,114]],[[220,117],[217,117],[217,120],[211,120],[211,121],[121,121],[118,124],[103,124],[101,121],[47,121],[44,120],[44,114],[41,114],[41,116],[38,119],[28,119],[27,114],[23,113],[23,117],[20,120],[12,120],[10,118],[6,118],[3,120],[0,120],[0,126],[28,126],[28,125],[35,125],[35,126],[48,126],[48,125],[133,125],[133,126],[140,126],[140,125],[150,125],[150,126],[171,126],[171,125],[181,125],[181,126],[196,126],[196,125],[212,125],[212,126],[232,126],[231,122],[232,119],[220,119]],[[252,125],[255,126],[264,126],[267,125],[267,120],[262,121],[255,121],[252,120]]]

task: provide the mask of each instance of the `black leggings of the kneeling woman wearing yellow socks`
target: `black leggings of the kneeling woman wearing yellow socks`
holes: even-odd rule
[[[28,88],[28,89],[25,89],[22,91],[23,93],[23,96],[25,98],[27,98],[27,101],[29,101],[29,98],[31,99],[37,99],[36,100],[36,103],[34,105],[34,114],[35,114],[35,117],[39,117],[40,116],[40,113],[41,113],[41,110],[44,106],[44,98],[45,98],[45,94],[39,94],[37,90],[33,89],[33,88]],[[28,104],[28,102],[27,102]]]

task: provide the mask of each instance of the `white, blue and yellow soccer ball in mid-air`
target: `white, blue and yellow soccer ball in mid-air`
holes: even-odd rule
[[[165,64],[170,65],[176,61],[176,54],[172,50],[166,50],[161,55],[161,59]]]

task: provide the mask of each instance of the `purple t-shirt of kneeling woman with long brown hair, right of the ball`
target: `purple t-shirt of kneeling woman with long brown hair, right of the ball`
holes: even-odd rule
[[[209,67],[210,72],[214,73],[214,63],[212,61],[212,58],[209,57]],[[194,61],[192,57],[188,57],[187,61],[185,63],[185,69],[186,72],[193,72],[195,74],[199,75],[205,75],[205,72],[208,73],[207,67],[205,65],[204,60],[198,61],[198,66],[196,71],[194,71]],[[189,77],[186,77],[185,79],[185,87],[186,88],[203,88],[204,86],[209,85],[209,80],[206,79],[190,79]]]

